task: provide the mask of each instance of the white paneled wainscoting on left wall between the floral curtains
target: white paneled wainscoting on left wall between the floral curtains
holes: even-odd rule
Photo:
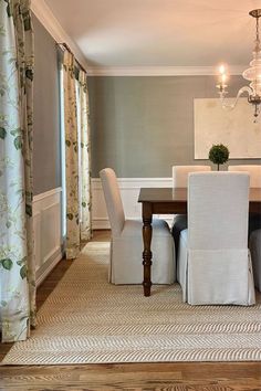
[[[36,286],[62,258],[62,188],[33,197],[33,229]]]

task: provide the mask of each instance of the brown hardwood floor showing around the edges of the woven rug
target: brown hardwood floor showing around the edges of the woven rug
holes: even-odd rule
[[[95,241],[109,233],[96,231]],[[73,261],[61,261],[38,289],[40,307]],[[260,336],[261,338],[261,336]],[[11,344],[0,344],[0,360]],[[261,362],[0,367],[0,390],[261,391]]]

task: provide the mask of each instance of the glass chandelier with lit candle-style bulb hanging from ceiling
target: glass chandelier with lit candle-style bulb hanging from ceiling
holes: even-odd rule
[[[238,103],[239,97],[243,94],[248,94],[248,102],[251,103],[254,107],[254,121],[260,114],[260,104],[261,104],[261,43],[259,38],[259,18],[261,17],[261,9],[252,10],[249,14],[255,18],[255,40],[253,47],[253,60],[250,62],[250,67],[243,71],[242,76],[247,81],[251,82],[249,86],[243,86],[239,89],[238,95],[233,104],[229,105],[226,103],[226,95],[228,94],[226,84],[228,81],[228,75],[226,73],[225,65],[221,65],[219,68],[219,84],[217,88],[219,89],[219,96],[221,99],[222,108],[233,109]]]

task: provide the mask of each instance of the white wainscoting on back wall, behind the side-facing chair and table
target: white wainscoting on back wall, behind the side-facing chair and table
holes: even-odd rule
[[[140,188],[171,188],[171,178],[118,178],[125,215],[127,219],[140,219],[142,205],[138,203]],[[92,179],[92,222],[94,230],[109,229],[101,179]],[[157,215],[171,223],[173,215]]]

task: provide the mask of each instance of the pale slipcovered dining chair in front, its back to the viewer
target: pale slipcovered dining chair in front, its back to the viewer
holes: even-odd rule
[[[190,173],[177,277],[191,305],[255,303],[248,250],[249,175]]]

